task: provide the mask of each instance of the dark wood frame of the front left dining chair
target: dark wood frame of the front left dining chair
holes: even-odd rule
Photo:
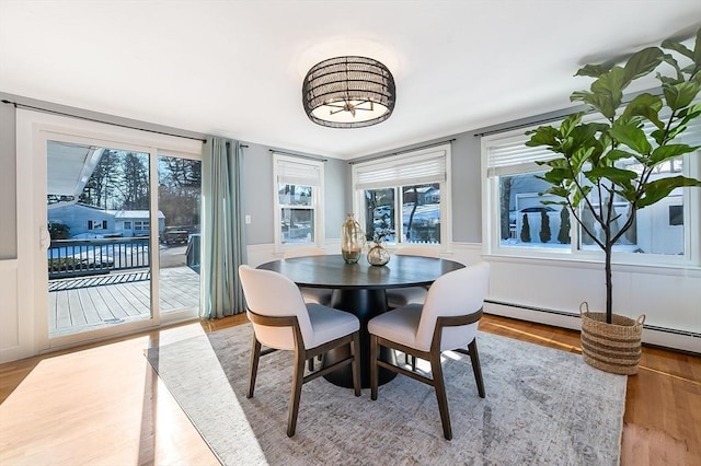
[[[299,412],[299,398],[302,393],[302,385],[307,382],[311,382],[317,377],[325,375],[347,364],[352,364],[353,370],[353,388],[355,396],[360,396],[360,368],[358,350],[360,348],[359,331],[346,335],[342,338],[331,340],[315,348],[304,348],[304,341],[302,339],[301,329],[297,316],[289,317],[272,317],[255,314],[249,311],[249,319],[256,324],[269,327],[291,327],[295,337],[295,368],[292,373],[292,392],[289,399],[289,416],[287,419],[287,436],[295,435],[295,429],[297,428],[297,415]],[[304,375],[304,363],[308,360],[312,360],[317,356],[324,354],[326,351],[348,345],[350,348],[350,354],[342,359],[327,368],[318,370],[308,375]],[[251,372],[249,377],[249,392],[246,398],[253,397],[253,391],[255,388],[255,377],[258,372],[258,361],[262,356],[269,354],[277,351],[275,348],[261,349],[262,345],[253,333],[253,349],[251,350]]]

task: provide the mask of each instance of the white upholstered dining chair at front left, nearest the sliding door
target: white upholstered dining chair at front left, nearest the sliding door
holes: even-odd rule
[[[355,315],[321,304],[306,304],[295,282],[281,273],[242,265],[239,267],[239,276],[246,301],[246,313],[253,325],[246,398],[253,397],[261,356],[275,350],[295,352],[288,436],[295,435],[302,384],[352,364],[354,394],[360,396],[360,323]],[[262,346],[267,349],[262,351]],[[344,346],[349,347],[347,358],[304,375],[307,360]]]

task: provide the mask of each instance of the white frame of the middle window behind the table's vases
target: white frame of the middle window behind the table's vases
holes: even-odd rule
[[[418,177],[415,184],[428,185],[437,183],[440,190],[440,242],[438,244],[427,244],[428,246],[435,246],[440,251],[450,251],[452,244],[452,188],[451,188],[451,144],[445,143],[439,145],[433,145],[430,148],[417,149],[401,154],[388,155],[368,161],[358,161],[352,163],[352,189],[353,189],[353,211],[356,212],[356,220],[360,224],[363,231],[367,231],[365,215],[358,214],[358,212],[365,212],[365,190],[366,189],[394,189],[394,224],[402,225],[402,193],[399,188],[406,186],[406,180],[398,184],[389,184],[382,186],[372,187],[358,187],[359,173],[367,173],[372,170],[392,170],[398,167],[405,167],[414,163],[421,163],[421,161],[427,159],[440,159],[443,158],[444,172],[436,177]],[[389,243],[390,247],[401,247],[414,243],[406,243],[402,241],[402,234],[395,233],[395,242]]]

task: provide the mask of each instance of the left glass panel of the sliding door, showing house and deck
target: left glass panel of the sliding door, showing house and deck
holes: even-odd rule
[[[149,153],[49,140],[49,338],[153,318]]]

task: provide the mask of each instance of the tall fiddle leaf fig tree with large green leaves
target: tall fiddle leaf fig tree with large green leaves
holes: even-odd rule
[[[623,105],[625,89],[654,71],[660,93],[641,93]],[[634,225],[637,210],[664,199],[674,189],[701,186],[701,180],[693,177],[656,176],[664,166],[699,149],[679,142],[679,137],[701,116],[701,30],[693,50],[665,40],[660,47],[633,54],[624,66],[587,65],[576,75],[593,78],[594,82],[588,91],[574,92],[571,101],[584,103],[599,118],[585,123],[584,112],[571,115],[559,128],[541,126],[528,131],[530,140],[526,144],[542,145],[556,154],[538,162],[547,167],[539,177],[549,185],[540,195],[559,198],[542,202],[568,208],[583,234],[605,253],[606,315],[610,324],[613,245]],[[652,132],[646,133],[644,128],[652,128]],[[616,209],[614,202],[621,201],[628,205],[625,212]]]

